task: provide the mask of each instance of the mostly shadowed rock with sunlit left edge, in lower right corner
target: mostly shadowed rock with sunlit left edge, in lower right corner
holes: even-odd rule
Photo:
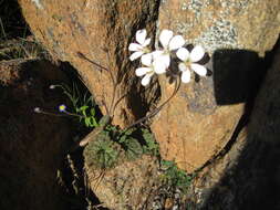
[[[279,209],[280,49],[273,59],[250,122],[228,154],[200,172],[195,209]]]

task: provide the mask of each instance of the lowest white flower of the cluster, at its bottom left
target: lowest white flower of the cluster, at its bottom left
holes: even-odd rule
[[[143,86],[146,86],[149,84],[152,76],[157,73],[157,74],[163,74],[165,73],[165,65],[158,64],[157,71],[155,70],[155,54],[154,53],[148,53],[142,56],[142,64],[144,67],[138,67],[135,71],[136,76],[144,76],[141,81],[141,84]]]

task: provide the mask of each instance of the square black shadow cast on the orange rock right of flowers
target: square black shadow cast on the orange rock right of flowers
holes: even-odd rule
[[[215,98],[218,105],[248,102],[266,74],[263,59],[246,50],[218,50],[212,59]],[[257,84],[257,85],[256,85]]]

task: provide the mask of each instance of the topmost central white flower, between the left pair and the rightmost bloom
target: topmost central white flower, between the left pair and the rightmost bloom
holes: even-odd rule
[[[185,40],[182,35],[173,36],[173,31],[164,29],[159,34],[159,42],[163,45],[163,50],[155,51],[155,67],[159,66],[159,63],[164,63],[166,69],[170,65],[170,52],[182,48],[185,44]]]

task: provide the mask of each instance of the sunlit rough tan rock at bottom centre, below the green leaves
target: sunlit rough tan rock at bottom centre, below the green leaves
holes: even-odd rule
[[[106,208],[152,209],[149,199],[160,183],[155,157],[144,155],[133,161],[121,160],[106,170],[86,167],[91,189]]]

